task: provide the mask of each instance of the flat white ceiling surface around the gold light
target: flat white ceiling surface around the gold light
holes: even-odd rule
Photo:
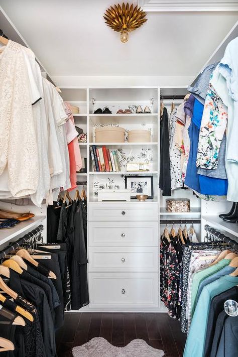
[[[0,0],[51,76],[193,76],[238,18],[238,12],[152,12],[122,44],[102,18],[113,3]]]

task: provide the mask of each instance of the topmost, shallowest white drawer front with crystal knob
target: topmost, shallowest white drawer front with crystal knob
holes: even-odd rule
[[[158,220],[157,204],[146,202],[93,204],[89,203],[89,221],[152,221]]]

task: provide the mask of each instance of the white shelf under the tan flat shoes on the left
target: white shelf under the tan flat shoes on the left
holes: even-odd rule
[[[28,220],[25,220],[19,224],[16,224],[13,228],[0,229],[0,245],[11,242],[15,236],[28,233],[35,225],[39,225],[46,216],[35,216]]]

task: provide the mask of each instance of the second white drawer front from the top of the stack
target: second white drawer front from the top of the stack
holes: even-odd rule
[[[90,222],[89,247],[156,247],[157,222]]]

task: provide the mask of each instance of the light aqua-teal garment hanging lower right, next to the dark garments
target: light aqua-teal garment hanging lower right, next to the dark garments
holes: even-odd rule
[[[225,275],[220,279],[204,286],[198,300],[183,357],[203,357],[207,318],[209,314],[211,300],[214,296],[226,291],[238,284],[238,277]]]

